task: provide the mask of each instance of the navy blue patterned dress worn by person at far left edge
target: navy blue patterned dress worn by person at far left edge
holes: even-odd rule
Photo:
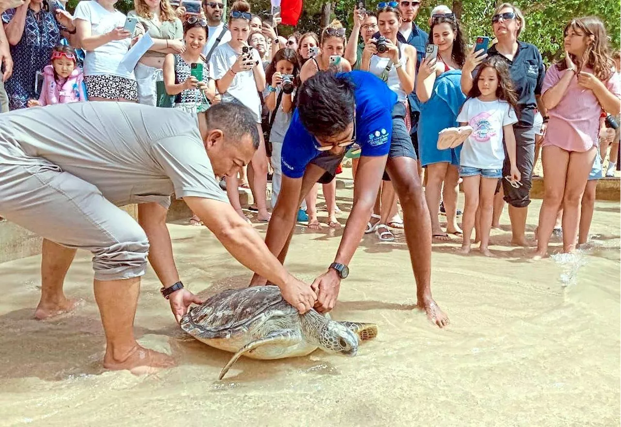
[[[2,13],[2,22],[8,24],[16,9]],[[60,29],[52,13],[43,9],[37,13],[28,8],[24,34],[15,46],[11,46],[13,74],[4,86],[9,96],[9,109],[27,107],[29,99],[39,98],[35,92],[37,71],[50,63],[52,49],[60,42]],[[39,88],[40,89],[40,88]]]

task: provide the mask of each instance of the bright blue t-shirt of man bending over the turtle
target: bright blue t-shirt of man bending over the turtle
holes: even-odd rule
[[[351,71],[343,75],[356,86],[356,143],[360,145],[361,155],[388,155],[392,107],[397,103],[397,94],[368,71]],[[306,166],[320,154],[315,148],[315,137],[304,128],[296,109],[284,136],[281,153],[283,174],[289,178],[302,178]]]

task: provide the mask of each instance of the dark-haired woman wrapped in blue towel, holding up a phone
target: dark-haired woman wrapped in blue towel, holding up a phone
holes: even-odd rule
[[[431,215],[432,236],[435,240],[448,241],[449,234],[462,235],[456,218],[461,146],[438,150],[437,143],[440,130],[458,125],[457,115],[466,100],[460,88],[466,40],[453,14],[432,17],[430,34],[438,53],[425,58],[416,81],[420,100],[420,163],[427,168],[425,199]],[[438,220],[440,192],[446,210],[446,233]]]

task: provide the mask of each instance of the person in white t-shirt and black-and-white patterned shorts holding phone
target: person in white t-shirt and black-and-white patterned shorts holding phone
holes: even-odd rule
[[[137,20],[127,19],[114,9],[116,2],[81,1],[75,10],[79,44],[86,52],[84,82],[89,101],[138,101],[134,70],[121,65],[132,44]]]

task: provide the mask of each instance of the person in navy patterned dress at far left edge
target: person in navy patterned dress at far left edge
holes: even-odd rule
[[[9,109],[16,110],[39,97],[37,73],[42,73],[48,65],[52,50],[61,38],[76,45],[76,29],[70,14],[60,10],[50,12],[48,2],[43,0],[26,0],[22,6],[4,11],[2,24],[10,55],[5,52],[1,56],[5,66],[11,65],[11,58],[13,61],[3,76],[6,77],[4,86]]]

